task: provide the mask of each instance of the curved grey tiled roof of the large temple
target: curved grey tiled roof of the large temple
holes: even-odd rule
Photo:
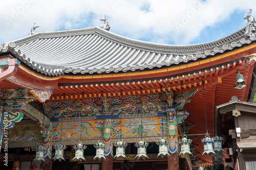
[[[246,27],[219,40],[195,45],[144,42],[111,33],[101,27],[92,27],[36,32],[0,45],[0,54],[10,52],[21,62],[47,76],[108,74],[209,58],[252,41],[255,41],[255,36],[248,35]]]

